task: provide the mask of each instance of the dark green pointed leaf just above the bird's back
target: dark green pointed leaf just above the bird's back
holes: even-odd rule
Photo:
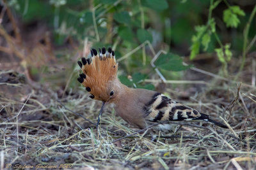
[[[156,67],[160,69],[166,69],[168,71],[182,71],[188,69],[191,66],[184,66],[182,59],[179,55],[173,53],[167,53],[161,55],[155,62]]]

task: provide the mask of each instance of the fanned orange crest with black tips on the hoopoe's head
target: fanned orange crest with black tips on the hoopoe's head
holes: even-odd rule
[[[99,53],[92,48],[91,54],[92,60],[83,57],[82,62],[77,62],[83,71],[77,80],[90,92],[92,99],[106,101],[108,83],[116,78],[118,63],[115,52],[110,47],[106,52],[103,47],[102,50],[99,48]]]

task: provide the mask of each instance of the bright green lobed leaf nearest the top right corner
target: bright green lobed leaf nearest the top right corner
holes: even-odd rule
[[[240,23],[237,15],[245,15],[244,11],[241,10],[239,6],[229,6],[229,8],[223,12],[223,20],[227,27],[237,27]]]

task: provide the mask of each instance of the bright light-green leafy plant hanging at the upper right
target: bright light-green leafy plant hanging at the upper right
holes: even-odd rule
[[[218,4],[224,1],[227,4],[227,10],[223,11],[223,22],[225,22],[227,27],[235,27],[240,23],[239,16],[244,16],[245,13],[240,9],[239,6],[230,6],[225,0],[213,1],[209,7],[209,17],[206,25],[197,25],[195,27],[196,34],[192,37],[191,53],[190,59],[194,59],[196,55],[200,52],[200,45],[204,46],[204,52],[207,51],[209,43],[211,42],[211,35],[213,34],[216,41],[218,42],[220,48],[215,48],[218,59],[221,62],[221,73],[223,76],[228,76],[227,63],[232,58],[232,52],[230,50],[230,44],[223,45],[220,41],[220,37],[216,32],[216,22],[212,18],[212,10],[218,6]],[[214,3],[213,3],[214,2]]]

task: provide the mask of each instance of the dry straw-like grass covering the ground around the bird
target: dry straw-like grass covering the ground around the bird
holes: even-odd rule
[[[1,75],[6,75],[2,72]],[[10,74],[9,74],[10,75]],[[12,87],[15,85],[15,87]],[[19,92],[29,87],[23,83],[2,84]],[[63,95],[44,87],[29,89],[19,99],[4,96],[1,104],[1,166],[7,163],[26,166],[60,166],[97,169],[253,169],[256,166],[255,89],[231,83],[208,87],[207,91],[181,102],[227,120],[230,129],[202,123],[186,123],[177,134],[150,141],[143,132],[120,141],[138,129],[130,127],[112,108],[105,110],[99,132],[95,129],[100,102],[88,98],[84,89]],[[227,90],[229,89],[229,90]],[[59,89],[60,90],[60,89]],[[166,89],[173,99],[179,93]],[[17,96],[17,94],[15,95]],[[61,106],[58,103],[60,100]],[[225,108],[225,106],[227,106]],[[232,109],[231,109],[232,107]],[[70,110],[70,111],[69,111]],[[226,111],[225,111],[226,110]],[[83,115],[84,118],[72,113]],[[177,123],[177,122],[175,122]],[[207,126],[205,126],[207,125]]]

